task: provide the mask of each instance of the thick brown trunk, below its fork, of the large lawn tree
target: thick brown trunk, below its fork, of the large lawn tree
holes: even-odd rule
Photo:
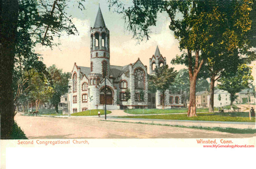
[[[197,113],[196,113],[196,83],[197,83],[197,77],[193,77],[192,81],[190,81],[188,117],[197,116]]]

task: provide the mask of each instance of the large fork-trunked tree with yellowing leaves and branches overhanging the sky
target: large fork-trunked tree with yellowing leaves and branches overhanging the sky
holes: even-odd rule
[[[208,54],[219,57],[209,53],[209,46],[216,38],[218,39],[216,36],[224,36],[223,44],[229,46],[226,48],[230,50],[242,48],[244,44],[241,42],[247,38],[246,31],[250,30],[251,21],[248,14],[253,6],[253,0],[133,0],[128,6],[119,0],[109,0],[109,2],[110,7],[115,6],[116,11],[123,14],[128,23],[127,29],[139,40],[149,38],[149,28],[156,25],[158,12],[168,14],[169,28],[179,40],[180,50],[187,55],[190,80],[189,117],[196,116],[196,83],[201,67],[207,62]],[[232,26],[229,27],[230,24]],[[226,30],[226,33],[218,34],[220,29]]]

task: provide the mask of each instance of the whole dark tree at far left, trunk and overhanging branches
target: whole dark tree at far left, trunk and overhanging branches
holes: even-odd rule
[[[78,8],[84,9],[76,0]],[[42,44],[52,48],[55,37],[77,32],[72,17],[66,14],[71,0],[1,0],[0,1],[0,113],[1,139],[10,138],[14,124],[13,73],[19,57],[22,67],[33,67],[38,55],[33,48]],[[75,3],[72,3],[75,4]],[[25,65],[25,60],[29,60]]]

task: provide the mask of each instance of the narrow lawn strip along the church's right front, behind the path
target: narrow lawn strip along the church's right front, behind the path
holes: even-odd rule
[[[208,112],[209,109],[197,109],[197,112]],[[218,111],[217,108],[214,108],[214,111]],[[187,113],[188,109],[129,109],[129,114],[141,115],[141,114],[167,114],[167,113]],[[127,110],[125,110],[127,113]]]

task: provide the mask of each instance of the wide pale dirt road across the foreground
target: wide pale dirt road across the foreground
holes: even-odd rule
[[[256,134],[232,134],[200,129],[101,121],[98,118],[48,118],[17,116],[29,139],[72,138],[243,138]]]

